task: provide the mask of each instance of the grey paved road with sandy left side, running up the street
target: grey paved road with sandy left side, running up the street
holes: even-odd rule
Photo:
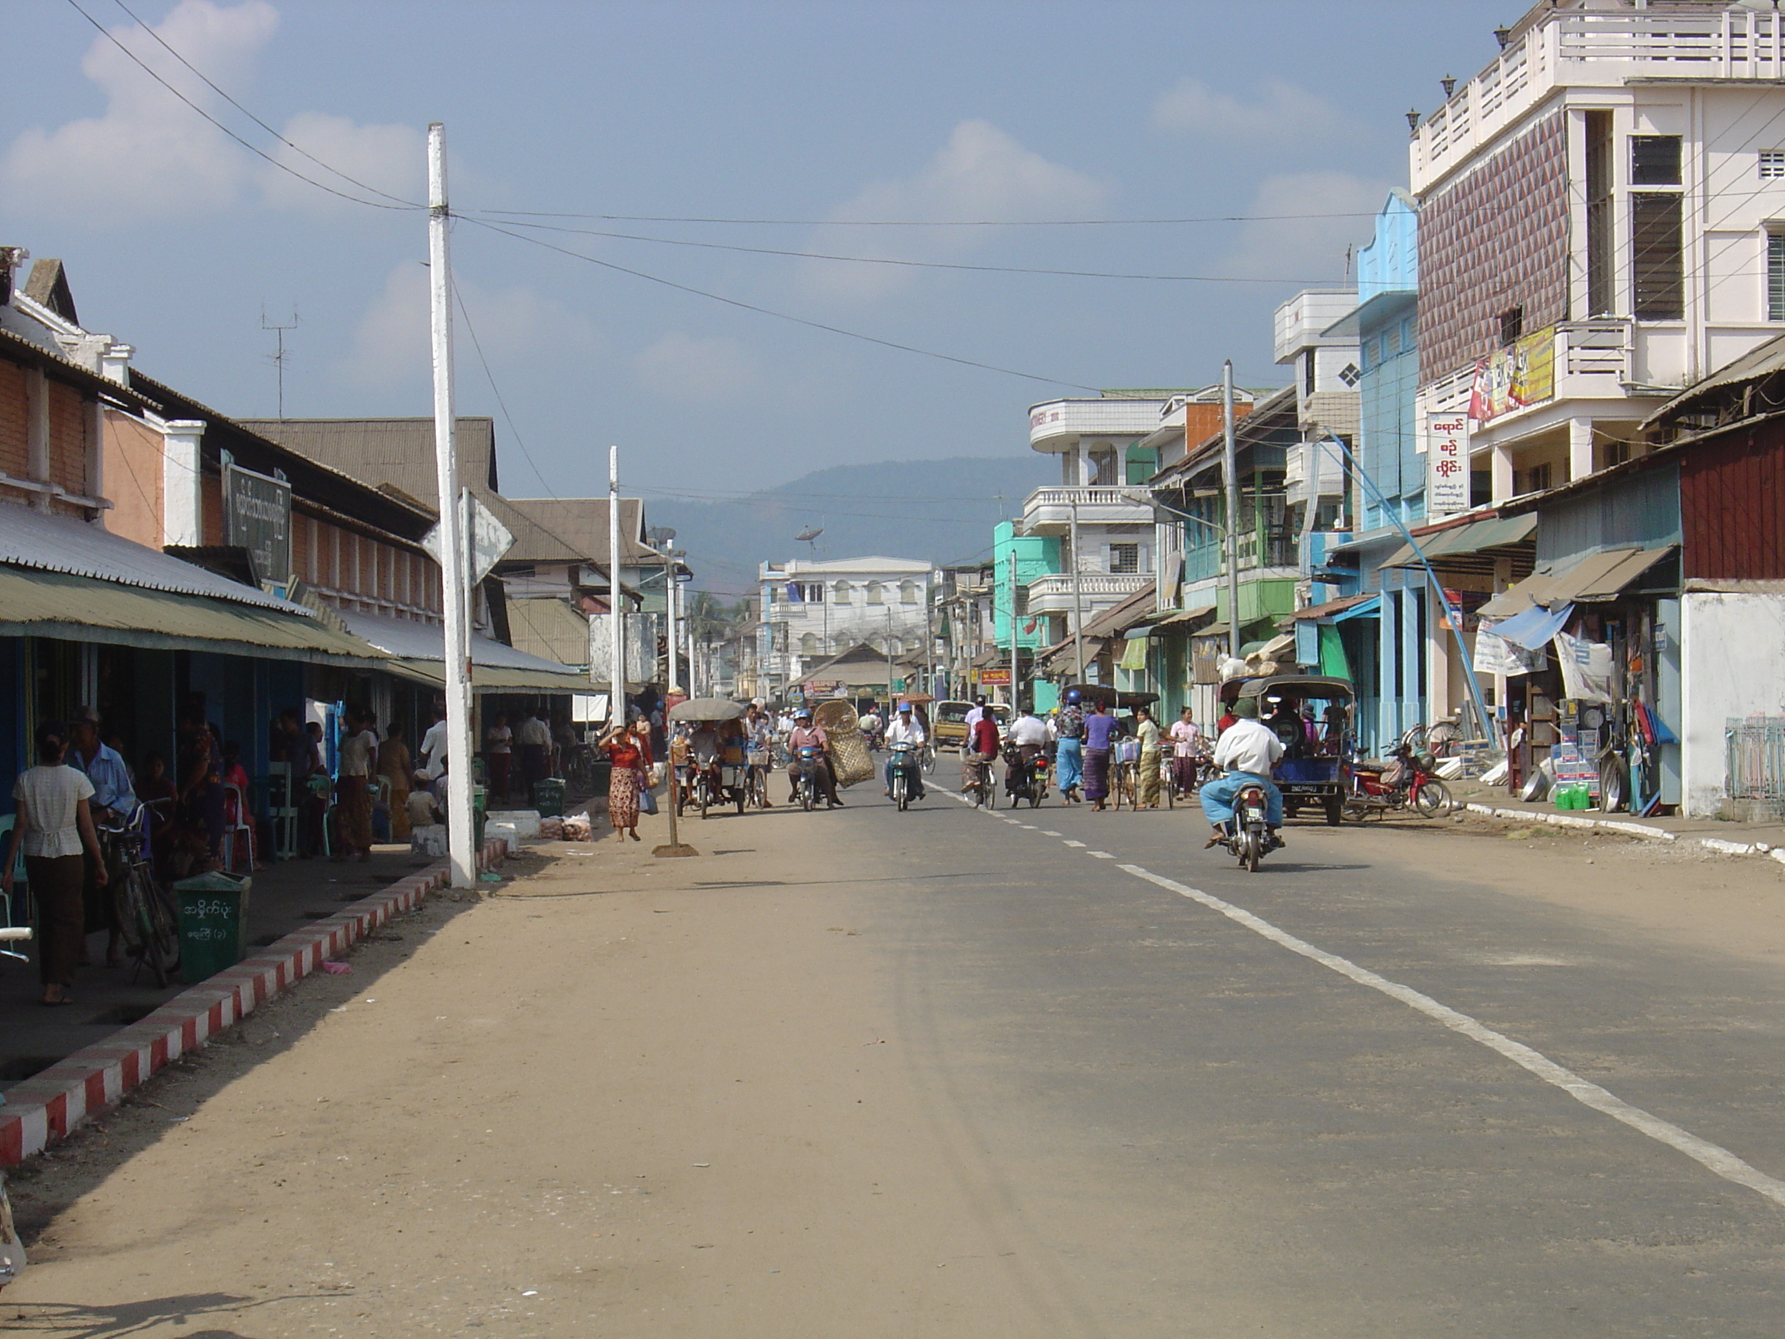
[[[1771,868],[1007,818],[857,796],[430,907],[23,1187],[23,1325],[1778,1332]]]

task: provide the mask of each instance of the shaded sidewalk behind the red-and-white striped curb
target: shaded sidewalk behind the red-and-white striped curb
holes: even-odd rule
[[[407,846],[380,846],[366,864],[284,861],[271,869],[257,869],[248,893],[248,955],[430,864],[430,859],[411,855]],[[34,941],[16,948],[36,953]],[[104,966],[104,930],[87,936],[87,955],[93,966],[80,969],[70,991],[75,1003],[61,1009],[37,1003],[43,987],[36,962],[0,959],[0,1094],[116,1028],[146,1018],[189,986],[175,978],[157,989],[146,969],[132,982],[130,968]]]

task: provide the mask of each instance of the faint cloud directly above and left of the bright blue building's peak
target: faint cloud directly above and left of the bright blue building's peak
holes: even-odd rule
[[[1369,241],[1371,221],[1342,216],[1369,214],[1382,207],[1387,195],[1385,182],[1344,171],[1266,177],[1246,212],[1267,218],[1244,225],[1223,270],[1244,279],[1344,279],[1346,246]],[[1355,264],[1351,273],[1357,273]]]

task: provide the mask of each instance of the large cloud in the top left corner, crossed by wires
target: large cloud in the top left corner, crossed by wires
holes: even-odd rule
[[[155,32],[220,86],[246,82],[253,59],[278,27],[266,0],[218,7],[180,0]],[[112,34],[168,84],[212,114],[221,100],[141,27]],[[95,37],[82,73],[105,95],[105,114],[54,130],[21,132],[0,164],[16,200],[52,212],[129,205],[180,214],[230,205],[245,184],[245,154],[107,37]]]

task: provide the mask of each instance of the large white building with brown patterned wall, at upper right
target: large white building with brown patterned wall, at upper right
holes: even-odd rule
[[[1414,130],[1419,396],[1498,502],[1785,329],[1785,16],[1544,0]]]

